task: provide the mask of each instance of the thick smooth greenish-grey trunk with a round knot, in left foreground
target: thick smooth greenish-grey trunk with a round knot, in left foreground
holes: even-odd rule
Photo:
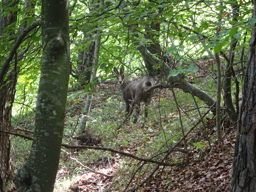
[[[68,0],[42,1],[42,68],[35,132],[27,163],[14,176],[18,192],[53,191],[68,92]]]

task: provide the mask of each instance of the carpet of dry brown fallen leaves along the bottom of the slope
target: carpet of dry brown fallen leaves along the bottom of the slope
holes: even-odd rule
[[[232,160],[234,155],[235,128],[224,127],[223,141],[212,143],[212,149],[188,149],[188,156],[179,166],[166,166],[159,169],[156,175],[146,182],[140,190],[143,192],[156,191],[186,191],[186,192],[224,192],[229,191],[229,184],[232,170]],[[202,134],[194,132],[190,135],[193,140],[200,141]],[[124,149],[125,152],[136,155],[137,146]],[[107,178],[99,174],[87,172],[77,175],[70,183],[67,192],[79,191],[123,191],[125,183],[120,188],[112,188],[118,180],[117,170],[122,156],[116,155],[115,161],[111,161],[107,166],[97,166],[98,171],[113,174]],[[133,161],[131,159],[131,161]],[[126,162],[130,164],[130,162]],[[71,174],[70,169],[62,168],[58,171],[56,182],[60,182],[65,175]],[[116,174],[115,174],[116,173]],[[117,177],[117,178],[115,178]],[[138,178],[134,177],[130,187],[136,185]],[[128,190],[129,191],[129,190]]]

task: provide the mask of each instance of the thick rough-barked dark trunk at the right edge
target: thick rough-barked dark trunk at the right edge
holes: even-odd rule
[[[253,18],[256,14],[254,3]],[[231,192],[252,192],[256,189],[256,25],[252,26],[249,58],[238,116]]]

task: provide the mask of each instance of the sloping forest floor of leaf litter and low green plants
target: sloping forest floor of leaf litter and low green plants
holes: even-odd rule
[[[207,70],[212,66],[212,61],[208,60],[206,63],[199,62],[198,65],[204,67],[205,70],[199,69],[196,76],[198,79],[202,78],[202,81],[204,81],[204,77],[207,76]],[[193,75],[187,76],[186,78],[189,82],[194,82]],[[155,81],[159,82],[159,79],[156,78]],[[207,87],[209,87],[209,85],[207,85]],[[92,118],[92,121],[89,122],[87,126],[92,129],[94,126],[94,130],[96,130],[95,132],[99,133],[96,136],[97,138],[93,140],[90,145],[100,147],[109,146],[113,149],[145,159],[158,154],[154,159],[160,161],[165,155],[166,150],[172,148],[172,145],[181,138],[181,133],[176,134],[176,132],[180,132],[179,116],[177,115],[176,106],[173,104],[174,102],[172,100],[173,98],[170,90],[168,92],[167,89],[160,91],[159,89],[156,89],[156,93],[150,105],[152,110],[151,115],[149,114],[149,116],[151,118],[145,120],[140,117],[141,120],[138,121],[137,124],[124,124],[117,130],[116,127],[122,124],[123,114],[121,111],[124,107],[124,103],[119,105],[120,100],[122,100],[122,94],[118,90],[119,86],[115,83],[98,84],[96,86],[95,92],[93,93],[94,100],[92,100],[91,110],[92,113],[96,111],[96,115],[94,114],[95,119]],[[82,97],[80,93],[77,93],[76,91],[73,92],[76,94],[74,98],[79,98],[78,103],[80,102],[80,104],[77,106],[76,99],[72,99],[70,101],[71,104],[67,110],[65,123],[65,130],[66,132],[69,131],[66,133],[67,135],[71,135],[74,131],[74,127],[77,126],[76,119],[81,114],[86,96],[84,94]],[[81,92],[84,93],[84,90],[81,90]],[[177,94],[182,94],[179,90],[176,90],[176,92]],[[167,108],[170,107],[174,108],[170,111],[165,111],[167,115],[164,115],[164,110],[162,110],[162,114],[160,115],[161,119],[159,120],[157,117],[158,109],[154,109],[153,106],[155,106],[155,108],[158,106],[159,108],[160,93],[160,99],[168,98],[168,100],[163,100],[163,103],[167,105],[164,110],[167,110]],[[109,96],[111,96],[112,99],[109,100]],[[188,96],[185,95],[184,101],[187,100]],[[181,108],[184,110],[187,109],[187,111],[191,111],[191,108],[194,108],[193,110],[195,110],[195,107],[191,106],[191,103],[186,103]],[[116,114],[111,112],[112,108],[115,108]],[[202,109],[203,108],[204,104]],[[184,118],[185,113],[186,111],[183,111]],[[193,113],[196,114],[196,112]],[[97,115],[101,116],[100,120],[96,119]],[[192,115],[192,117],[193,118],[189,120],[190,122],[184,120],[183,123],[187,126],[185,131],[188,131],[194,122],[199,119],[196,115]],[[31,125],[33,126],[34,121],[33,118],[31,119]],[[93,123],[97,121],[99,124],[93,125]],[[161,126],[159,124],[161,124]],[[100,128],[101,125],[102,127]],[[172,126],[178,128],[170,131],[171,129],[169,128],[172,128]],[[118,153],[93,149],[84,150],[63,148],[65,151],[72,153],[71,157],[73,159],[70,159],[65,152],[61,152],[54,192],[229,191],[236,126],[231,123],[225,114],[223,115],[221,127],[223,140],[221,143],[218,143],[217,141],[214,115],[205,118],[205,126],[210,137],[211,148],[207,142],[203,126],[197,126],[197,128],[190,132],[186,138],[187,150],[185,149],[184,144],[179,144],[165,161],[166,163],[170,163],[170,166],[160,165],[155,172],[153,172],[153,170],[157,167],[156,164],[138,161]],[[100,129],[102,129],[101,133],[99,131]],[[165,133],[160,133],[164,129]],[[168,138],[165,138],[164,141],[164,137]],[[163,142],[160,143],[159,141],[162,140]],[[174,141],[170,142],[170,140]],[[13,140],[13,151],[15,151],[13,155],[15,157],[12,157],[12,159],[16,159],[14,163],[15,169],[19,169],[19,167],[26,162],[26,158],[28,156],[28,152],[25,153],[19,151],[21,148],[20,143],[23,141],[24,140],[17,140],[17,147],[15,147],[15,141]],[[157,145],[158,142],[159,145]],[[71,140],[70,143],[69,139],[68,144],[89,145],[88,143],[81,143],[77,140]],[[23,146],[25,146],[24,151],[29,150],[30,146],[27,141],[24,142]],[[17,164],[17,162],[21,162],[21,165]],[[145,164],[143,165],[143,163]],[[106,177],[101,174],[90,172],[81,164],[88,166],[95,171],[111,176]],[[134,172],[136,172],[136,174],[134,174]],[[150,177],[150,174],[152,174],[152,177]],[[138,187],[138,185],[140,185],[140,187]],[[138,187],[138,189],[135,190],[136,187]],[[15,190],[13,189],[14,188],[9,191],[14,192]]]

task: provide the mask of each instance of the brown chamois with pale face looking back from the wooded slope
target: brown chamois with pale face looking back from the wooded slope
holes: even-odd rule
[[[138,116],[140,114],[140,102],[144,102],[146,104],[145,107],[145,117],[148,117],[148,105],[151,101],[153,90],[145,93],[145,91],[154,86],[154,81],[150,76],[145,76],[138,81],[128,81],[124,78],[124,66],[122,65],[120,68],[120,73],[114,67],[114,72],[116,74],[116,78],[118,83],[120,84],[123,90],[123,97],[125,101],[125,113],[126,116],[133,110],[135,106],[135,117],[134,123],[137,122]],[[131,111],[130,111],[131,109]]]

